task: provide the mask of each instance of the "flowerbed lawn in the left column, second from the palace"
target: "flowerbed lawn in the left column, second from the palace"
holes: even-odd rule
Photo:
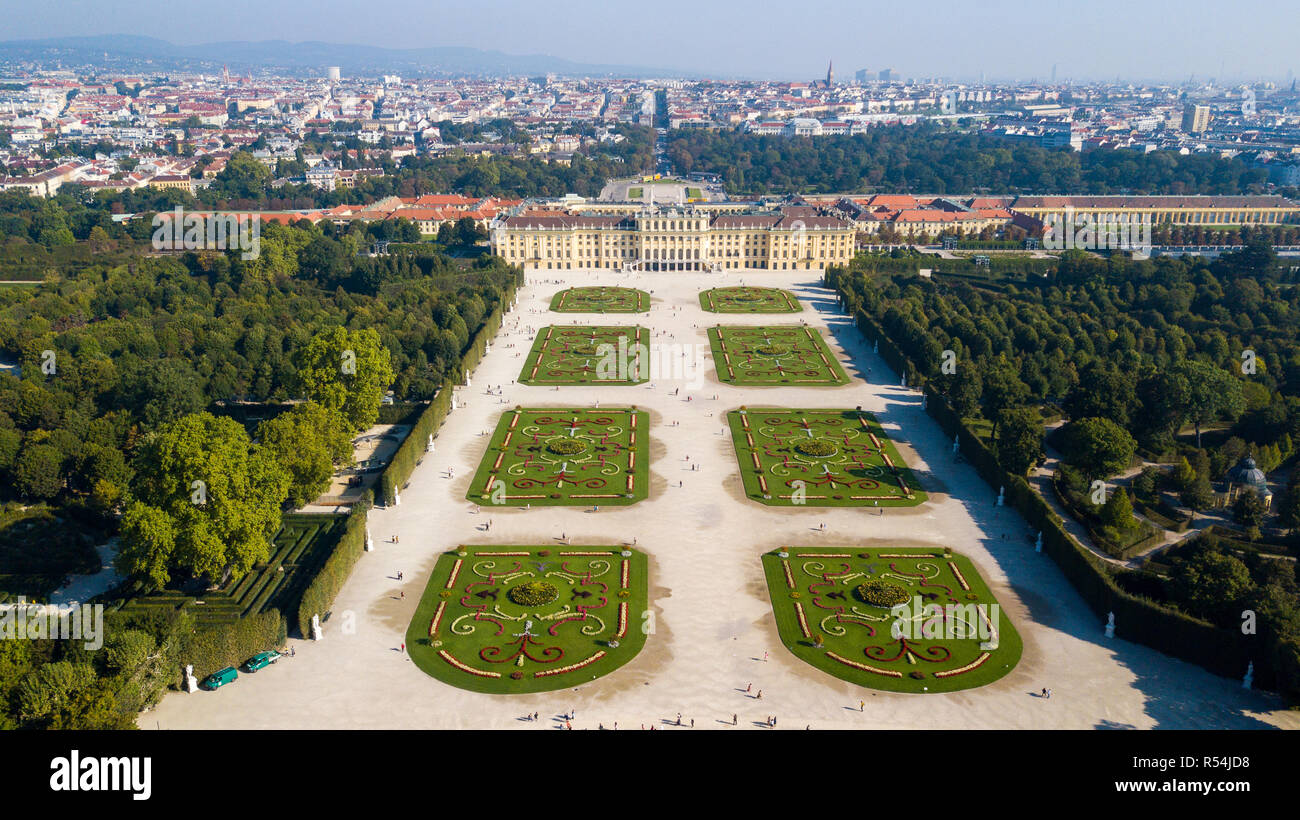
[[[542,327],[519,376],[524,385],[640,385],[649,379],[645,327]]]

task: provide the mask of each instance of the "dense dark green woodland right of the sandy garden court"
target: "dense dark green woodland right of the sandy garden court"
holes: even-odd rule
[[[1058,483],[1102,546],[1148,538],[1135,502],[1182,515],[1164,500],[1167,490],[1205,509],[1212,481],[1238,459],[1253,454],[1273,470],[1295,454],[1300,288],[1296,272],[1257,240],[1216,261],[1067,253],[1056,272],[1023,281],[937,282],[898,273],[900,261],[859,257],[835,274],[846,307],[870,316],[910,360],[909,383],[928,381],[970,429],[987,431],[984,444],[1017,481],[1044,454],[1044,408],[1063,412]],[[1210,429],[1213,446],[1202,439]],[[1127,469],[1136,454],[1173,467],[1147,468],[1131,495],[1112,487],[1104,503],[1088,499],[1092,481]],[[1252,546],[1269,519],[1253,493],[1230,512],[1245,530],[1245,557],[1206,537],[1161,556],[1162,573],[1117,581],[1223,628],[1256,612],[1261,658],[1300,697],[1300,578],[1294,563],[1261,555],[1290,547]],[[1300,483],[1292,480],[1271,512],[1278,528],[1300,529]]]

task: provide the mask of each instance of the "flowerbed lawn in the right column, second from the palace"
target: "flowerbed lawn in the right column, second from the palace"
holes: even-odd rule
[[[718,378],[738,386],[848,385],[822,335],[805,325],[708,329]]]

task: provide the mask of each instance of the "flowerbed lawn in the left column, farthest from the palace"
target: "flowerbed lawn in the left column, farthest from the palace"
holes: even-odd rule
[[[463,546],[438,557],[407,652],[451,686],[572,689],[646,642],[646,556],[625,547]]]

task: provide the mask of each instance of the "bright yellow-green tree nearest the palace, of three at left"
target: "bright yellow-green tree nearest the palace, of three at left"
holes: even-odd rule
[[[312,337],[295,364],[306,398],[341,412],[352,430],[364,430],[380,417],[393,364],[374,329],[330,327]]]

